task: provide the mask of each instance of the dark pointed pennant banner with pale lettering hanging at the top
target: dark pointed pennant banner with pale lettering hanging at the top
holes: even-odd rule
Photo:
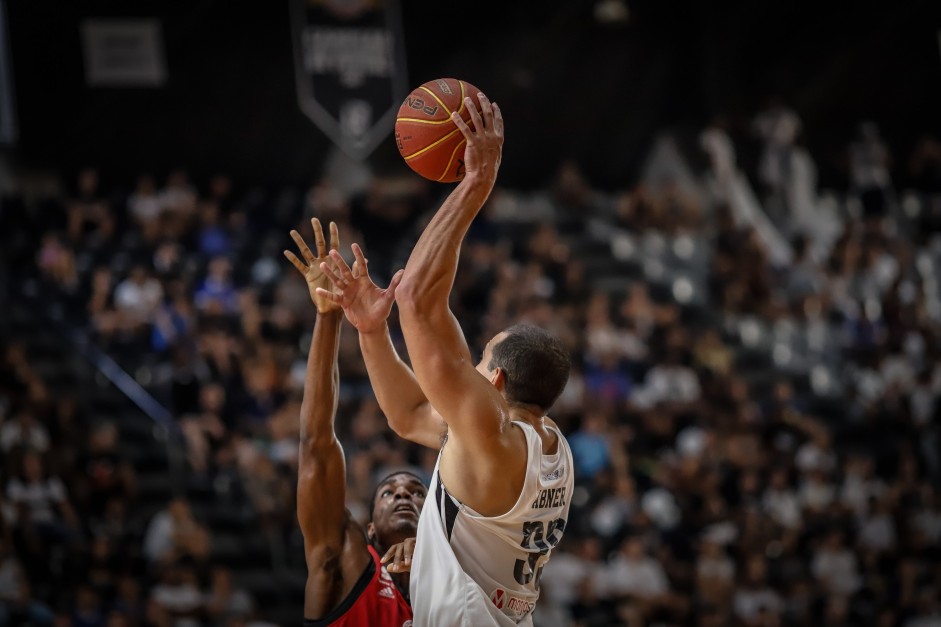
[[[330,139],[365,159],[406,95],[397,0],[289,0],[297,100]]]

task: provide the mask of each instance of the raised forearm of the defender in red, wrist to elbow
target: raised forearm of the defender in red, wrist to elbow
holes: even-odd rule
[[[301,401],[301,442],[329,442],[333,438],[340,373],[337,353],[340,348],[342,312],[318,314],[307,354],[304,398]]]

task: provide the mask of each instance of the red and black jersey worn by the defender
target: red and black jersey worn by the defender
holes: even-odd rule
[[[372,546],[369,555],[372,560],[343,602],[323,618],[305,618],[304,627],[412,627],[411,606]]]

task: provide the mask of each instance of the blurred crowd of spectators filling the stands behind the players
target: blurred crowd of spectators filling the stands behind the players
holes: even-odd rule
[[[715,126],[702,177],[674,168],[603,193],[569,163],[544,190],[498,189],[471,227],[452,308],[472,350],[528,321],[575,364],[552,413],[578,487],[539,625],[941,625],[941,143],[893,165],[865,125],[846,189],[825,197],[796,114],[769,109],[751,131],[751,163]],[[122,189],[88,169],[68,194],[3,211],[24,233],[17,262],[170,409],[188,485],[211,502],[244,495],[303,563],[294,482],[315,311],[281,258],[288,231],[336,221],[383,284],[443,189],[198,187],[182,171]],[[391,327],[404,351],[394,312]],[[340,367],[348,506],[365,519],[378,475],[428,476],[435,452],[388,430],[348,325]],[[76,416],[15,342],[0,387],[0,625],[257,614],[186,499],[126,541],[139,499],[113,424]]]

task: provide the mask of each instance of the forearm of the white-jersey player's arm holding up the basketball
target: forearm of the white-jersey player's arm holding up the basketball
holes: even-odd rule
[[[451,192],[412,250],[397,292],[401,304],[418,311],[447,307],[461,241],[493,189],[493,176],[468,177]]]

